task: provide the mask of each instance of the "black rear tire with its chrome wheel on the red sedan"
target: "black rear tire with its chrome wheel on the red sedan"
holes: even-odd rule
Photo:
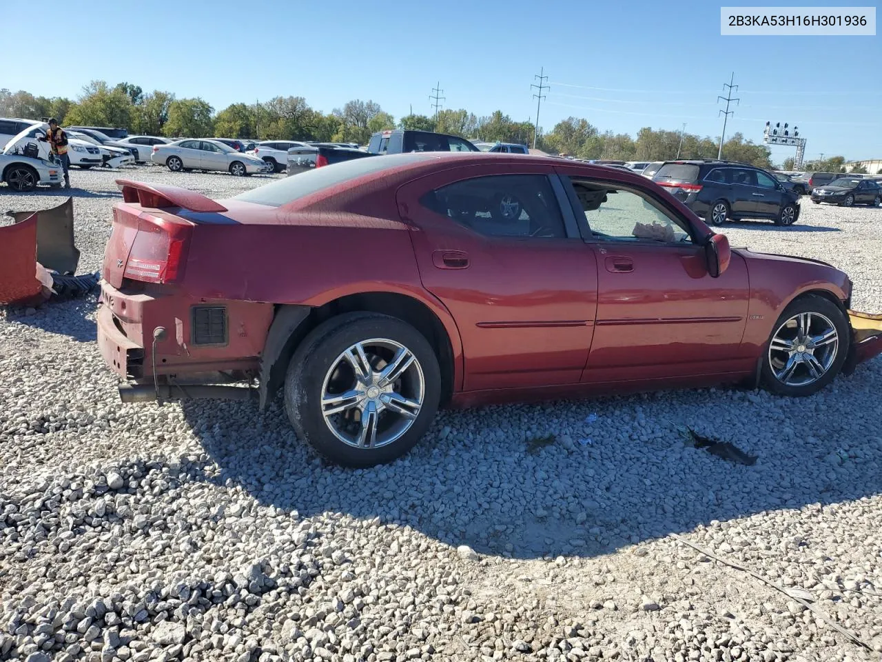
[[[441,388],[435,351],[407,322],[372,312],[327,320],[295,351],[285,409],[297,436],[347,467],[405,455],[429,429]]]

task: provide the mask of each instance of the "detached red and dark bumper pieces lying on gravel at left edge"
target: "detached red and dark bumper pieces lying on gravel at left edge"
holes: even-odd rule
[[[73,199],[41,211],[8,212],[0,227],[0,305],[40,305],[93,290],[98,274],[74,275]]]

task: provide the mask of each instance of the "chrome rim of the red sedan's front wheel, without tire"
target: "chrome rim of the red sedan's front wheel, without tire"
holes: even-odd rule
[[[781,324],[769,342],[769,365],[775,379],[791,387],[823,377],[839,350],[835,325],[819,312],[800,312]]]

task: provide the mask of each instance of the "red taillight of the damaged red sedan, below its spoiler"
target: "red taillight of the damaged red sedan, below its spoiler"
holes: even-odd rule
[[[131,244],[124,278],[167,283],[183,276],[191,227],[162,219],[138,219],[138,234]]]

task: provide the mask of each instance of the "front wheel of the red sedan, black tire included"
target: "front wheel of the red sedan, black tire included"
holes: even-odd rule
[[[791,397],[817,393],[839,374],[850,340],[848,320],[832,301],[817,295],[796,299],[763,349],[763,387]]]

